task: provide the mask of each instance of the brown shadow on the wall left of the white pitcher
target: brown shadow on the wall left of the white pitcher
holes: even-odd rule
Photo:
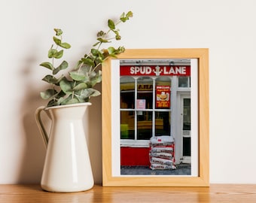
[[[20,115],[23,115],[24,146],[22,159],[20,160],[20,175],[18,183],[40,183],[44,166],[45,147],[38,127],[35,123],[35,109],[44,104],[40,98],[39,89],[35,89],[32,83],[32,67],[35,59],[26,59],[20,74],[26,81],[24,100],[20,106]]]

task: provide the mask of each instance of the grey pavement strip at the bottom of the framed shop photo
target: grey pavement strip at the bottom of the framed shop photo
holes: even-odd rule
[[[190,164],[178,164],[176,169],[168,170],[151,170],[149,166],[121,166],[121,175],[190,175],[191,165]]]

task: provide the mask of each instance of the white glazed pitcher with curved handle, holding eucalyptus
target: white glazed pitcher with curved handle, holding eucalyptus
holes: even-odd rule
[[[50,108],[39,107],[35,120],[47,153],[41,188],[50,192],[79,192],[93,187],[93,173],[84,133],[83,118],[90,102]],[[51,120],[47,135],[41,112]]]

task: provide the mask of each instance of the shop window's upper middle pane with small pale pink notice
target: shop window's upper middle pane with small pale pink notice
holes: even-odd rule
[[[153,80],[151,77],[139,77],[137,81],[137,108],[152,109]]]

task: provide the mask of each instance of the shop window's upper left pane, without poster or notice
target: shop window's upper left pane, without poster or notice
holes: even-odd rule
[[[120,78],[120,108],[134,108],[135,80],[133,77]]]

